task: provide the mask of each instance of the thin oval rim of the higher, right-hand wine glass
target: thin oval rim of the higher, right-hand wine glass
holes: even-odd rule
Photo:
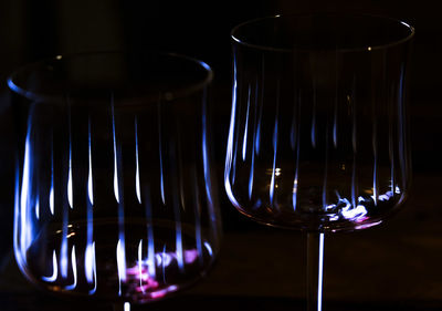
[[[235,32],[238,32],[238,30],[240,30],[242,27],[244,25],[250,25],[253,23],[257,23],[261,21],[265,21],[265,20],[276,20],[280,18],[307,18],[307,17],[346,17],[346,18],[370,18],[370,19],[379,19],[379,20],[383,20],[383,21],[390,21],[390,22],[394,22],[397,24],[401,24],[403,25],[406,29],[409,30],[409,34],[403,37],[402,39],[399,40],[394,40],[385,44],[378,44],[378,45],[367,45],[367,46],[362,46],[362,48],[341,48],[341,49],[334,49],[334,50],[319,50],[319,49],[308,49],[308,48],[275,48],[275,46],[270,46],[270,45],[264,45],[264,44],[255,44],[255,43],[250,43],[246,40],[242,40],[239,39],[238,37],[235,37]],[[240,44],[242,46],[246,46],[250,49],[255,49],[255,50],[262,50],[262,51],[270,51],[270,52],[282,52],[282,53],[293,53],[296,51],[334,51],[334,52],[371,52],[371,51],[376,51],[376,50],[383,50],[383,49],[388,49],[394,45],[399,45],[401,43],[404,43],[407,41],[410,41],[415,33],[415,29],[414,27],[410,25],[409,23],[407,23],[406,21],[399,20],[399,19],[394,19],[394,18],[390,18],[390,17],[382,17],[382,15],[376,15],[376,14],[351,14],[351,13],[288,13],[288,14],[274,14],[274,15],[267,15],[267,17],[262,17],[262,18],[256,18],[256,19],[251,19],[251,20],[246,20],[244,22],[241,22],[239,24],[236,24],[230,32],[230,38],[231,40],[236,43]]]

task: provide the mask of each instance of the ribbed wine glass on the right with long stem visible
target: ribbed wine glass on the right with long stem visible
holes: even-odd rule
[[[376,226],[409,191],[414,30],[389,18],[275,15],[232,30],[224,185],[234,207],[307,237],[307,310],[322,310],[324,234]]]

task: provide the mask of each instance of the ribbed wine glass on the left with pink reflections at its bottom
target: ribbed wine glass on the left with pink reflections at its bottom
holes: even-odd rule
[[[56,56],[8,80],[19,134],[14,253],[40,288],[156,301],[220,247],[211,69],[162,52]]]

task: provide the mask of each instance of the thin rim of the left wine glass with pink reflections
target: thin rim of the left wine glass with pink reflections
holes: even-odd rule
[[[180,53],[175,53],[175,52],[166,52],[166,51],[158,51],[158,50],[143,50],[143,51],[137,51],[135,52],[136,54],[155,54],[155,55],[165,55],[169,56],[171,59],[177,59],[177,60],[182,60],[189,63],[193,63],[196,68],[201,69],[203,72],[206,72],[204,77],[200,79],[199,81],[191,83],[189,86],[186,89],[183,87],[182,90],[179,90],[178,96],[173,96],[172,99],[168,99],[168,96],[165,96],[165,100],[176,100],[176,99],[181,99],[189,96],[200,90],[203,90],[206,86],[208,86],[212,81],[213,81],[213,70],[212,68],[196,58],[188,56],[185,54]],[[43,66],[48,64],[48,62],[60,62],[64,60],[72,60],[76,58],[86,58],[86,56],[93,56],[93,55],[112,55],[112,54],[130,54],[128,51],[124,50],[104,50],[104,51],[88,51],[88,52],[78,52],[78,53],[66,53],[66,54],[59,54],[54,56],[49,56],[49,58],[43,58],[40,60],[36,60],[34,62],[29,62],[23,65],[20,65],[15,68],[10,74],[7,76],[7,84],[10,91],[17,93],[18,95],[21,95],[23,97],[27,97],[32,101],[64,101],[66,99],[66,94],[60,94],[60,95],[53,95],[53,94],[45,94],[44,92],[35,92],[29,90],[29,87],[25,87],[23,85],[20,85],[20,83],[17,83],[17,77],[20,74],[23,74],[29,69],[35,68],[39,69],[40,66]],[[70,100],[75,100],[75,96],[71,97]],[[137,102],[137,101],[136,101]]]

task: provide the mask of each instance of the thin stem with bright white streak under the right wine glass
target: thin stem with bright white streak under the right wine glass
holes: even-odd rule
[[[324,232],[307,231],[307,311],[323,310]]]

